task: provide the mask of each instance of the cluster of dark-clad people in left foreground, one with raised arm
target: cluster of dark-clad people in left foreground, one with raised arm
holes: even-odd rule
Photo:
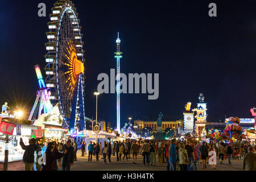
[[[28,146],[24,145],[23,139],[20,138],[20,146],[25,150],[25,171],[70,171],[73,162],[77,160],[75,140],[46,139],[42,143],[31,138],[28,143]]]

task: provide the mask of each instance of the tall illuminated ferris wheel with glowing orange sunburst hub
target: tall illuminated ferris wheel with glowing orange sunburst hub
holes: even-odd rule
[[[73,129],[80,123],[84,129],[84,50],[82,34],[72,1],[60,0],[49,15],[46,32],[46,83],[52,104],[59,102],[65,124]]]

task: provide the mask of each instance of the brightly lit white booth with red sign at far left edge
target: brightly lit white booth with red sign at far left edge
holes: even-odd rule
[[[20,137],[24,144],[28,145],[31,137],[40,137],[41,127],[32,126],[29,121],[21,119],[0,118],[0,120],[2,120],[0,121],[0,171],[23,170],[24,150],[19,144]]]

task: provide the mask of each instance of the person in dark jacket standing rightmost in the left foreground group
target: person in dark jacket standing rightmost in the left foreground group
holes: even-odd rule
[[[67,145],[64,145],[61,151],[67,150],[67,153],[64,154],[63,160],[61,162],[61,171],[70,171],[73,161],[75,159],[75,151],[71,146],[71,140],[69,139]]]

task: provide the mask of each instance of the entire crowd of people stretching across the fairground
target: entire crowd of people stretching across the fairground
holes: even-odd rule
[[[25,170],[70,170],[73,161],[77,160],[77,143],[75,140],[46,140],[44,144],[38,143],[36,139],[30,140],[29,146],[24,146],[20,139],[20,146],[25,150],[23,163]],[[137,156],[143,156],[143,166],[155,166],[156,159],[158,164],[163,166],[166,163],[167,171],[197,171],[197,166],[203,169],[216,169],[217,160],[220,165],[223,160],[243,159],[242,169],[256,169],[256,154],[254,143],[214,143],[189,142],[176,139],[170,140],[123,140],[115,142],[104,142],[103,144],[90,142],[88,145],[81,142],[81,156],[85,156],[88,150],[88,162],[92,162],[93,156],[96,161],[103,159],[103,163],[112,163],[112,158],[116,162],[131,159],[133,164],[137,164]],[[45,156],[44,156],[45,155]],[[45,160],[44,160],[45,159]],[[40,160],[44,163],[40,163]]]

